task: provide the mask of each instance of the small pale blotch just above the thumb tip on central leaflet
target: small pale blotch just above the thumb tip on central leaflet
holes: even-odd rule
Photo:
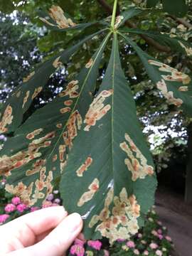
[[[94,181],[92,181],[92,183],[88,187],[89,191],[86,191],[80,197],[80,200],[78,201],[78,206],[81,207],[84,205],[84,203],[90,201],[95,195],[95,193],[97,192],[97,190],[99,189],[99,187],[100,187],[100,181],[97,178],[95,178]]]

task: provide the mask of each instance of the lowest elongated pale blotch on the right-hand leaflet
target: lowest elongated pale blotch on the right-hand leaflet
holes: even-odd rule
[[[162,79],[156,83],[156,87],[161,90],[162,95],[169,101],[170,104],[174,104],[176,107],[181,107],[183,100],[174,97],[174,92],[168,91],[166,82]]]

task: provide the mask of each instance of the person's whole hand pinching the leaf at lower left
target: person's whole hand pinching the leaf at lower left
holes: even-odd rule
[[[0,256],[63,256],[81,230],[63,206],[36,210],[0,226]]]

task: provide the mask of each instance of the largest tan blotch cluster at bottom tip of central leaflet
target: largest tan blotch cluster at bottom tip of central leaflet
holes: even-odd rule
[[[105,198],[104,208],[99,215],[92,216],[89,227],[92,228],[98,223],[95,231],[99,231],[112,244],[120,238],[128,240],[131,235],[138,232],[139,215],[140,206],[134,195],[128,197],[126,188],[122,188],[119,196],[114,196],[114,189],[110,188]]]

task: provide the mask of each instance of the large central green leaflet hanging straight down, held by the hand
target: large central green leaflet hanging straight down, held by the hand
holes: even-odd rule
[[[84,124],[60,181],[63,204],[69,213],[76,211],[85,219],[86,239],[128,239],[137,233],[144,213],[154,203],[156,178],[132,93],[122,72],[116,36],[105,78],[85,114]],[[138,175],[134,161],[139,166]],[[150,175],[144,173],[147,168]],[[118,212],[118,201],[129,210]]]

